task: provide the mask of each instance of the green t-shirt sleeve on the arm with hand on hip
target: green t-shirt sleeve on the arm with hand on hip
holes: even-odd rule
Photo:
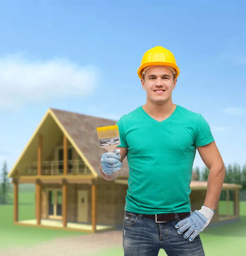
[[[210,126],[201,114],[197,116],[195,146],[201,147],[214,141]]]

